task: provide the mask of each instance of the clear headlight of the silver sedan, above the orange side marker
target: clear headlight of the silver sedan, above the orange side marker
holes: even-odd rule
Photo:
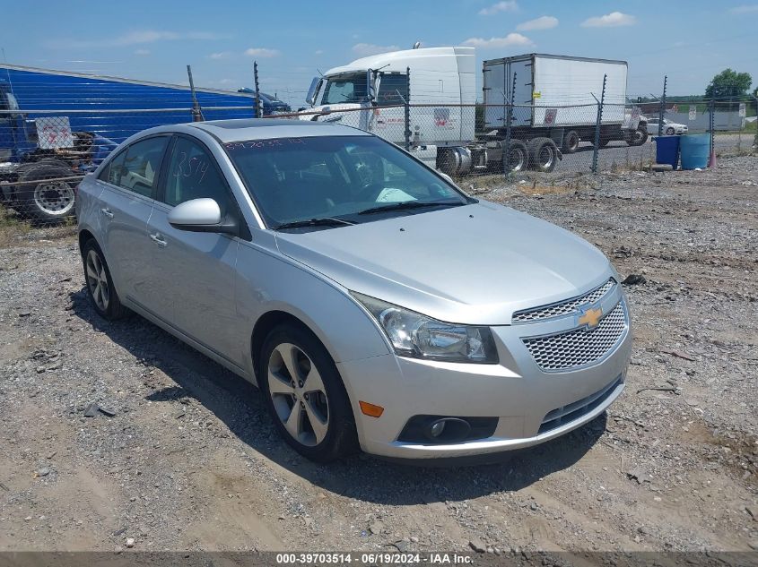
[[[401,357],[484,364],[498,362],[489,327],[436,321],[374,297],[351,293],[379,322],[396,354]]]

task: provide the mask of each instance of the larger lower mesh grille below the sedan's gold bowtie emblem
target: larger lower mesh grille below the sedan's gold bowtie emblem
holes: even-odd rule
[[[576,329],[544,337],[521,339],[545,372],[571,370],[605,357],[627,328],[626,308],[620,301],[592,330]]]

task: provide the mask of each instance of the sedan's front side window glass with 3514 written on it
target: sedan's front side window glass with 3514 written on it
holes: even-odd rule
[[[163,202],[173,207],[204,197],[219,204],[222,216],[231,208],[226,180],[216,168],[213,157],[198,142],[179,137],[171,151]]]

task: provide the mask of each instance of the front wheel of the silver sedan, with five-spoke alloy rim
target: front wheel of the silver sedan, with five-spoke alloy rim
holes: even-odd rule
[[[292,323],[275,327],[261,348],[257,376],[274,425],[292,449],[321,463],[358,450],[344,383],[313,333]]]

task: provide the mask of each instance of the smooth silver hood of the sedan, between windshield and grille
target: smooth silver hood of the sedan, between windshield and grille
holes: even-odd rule
[[[344,288],[446,322],[509,324],[614,274],[579,236],[489,202],[275,238]]]

